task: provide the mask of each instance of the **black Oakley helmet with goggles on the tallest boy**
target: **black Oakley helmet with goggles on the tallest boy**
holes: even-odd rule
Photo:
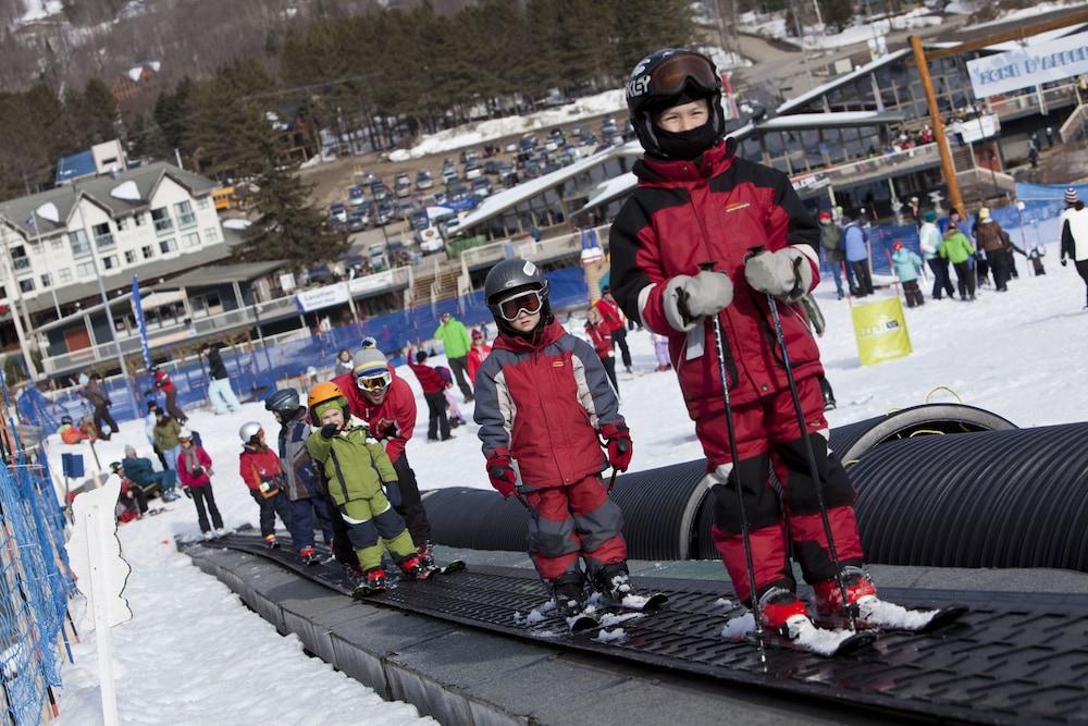
[[[653,116],[677,106],[682,99],[705,98],[716,138],[726,135],[721,109],[721,76],[714,61],[685,48],[663,48],[646,56],[631,71],[627,82],[627,108],[631,125],[647,152],[665,157],[654,133]]]

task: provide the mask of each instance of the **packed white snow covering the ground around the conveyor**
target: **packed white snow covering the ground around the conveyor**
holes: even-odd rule
[[[1029,242],[1030,236],[1028,232]],[[1021,276],[1010,283],[1007,293],[982,287],[973,304],[928,300],[922,308],[906,310],[914,353],[867,368],[858,365],[848,302],[834,299],[830,281],[821,283],[817,299],[827,333],[819,345],[839,402],[829,414],[831,426],[917,405],[930,394],[932,401],[953,401],[940,386],[1021,427],[1084,420],[1088,389],[1076,385],[1074,377],[1078,361],[1088,358],[1084,283],[1072,266],[1058,264],[1055,246],[1048,251],[1046,276],[1031,276],[1023,258],[1017,258]],[[923,283],[923,288],[928,297],[929,285]],[[578,333],[581,324],[574,318],[568,329]],[[700,457],[675,374],[653,372],[656,361],[648,332],[631,333],[629,340],[635,373],[620,373],[620,394],[634,438],[632,468]],[[442,362],[441,356],[433,360]],[[425,411],[415,376],[406,369],[398,372]],[[459,402],[460,395],[455,398]],[[460,407],[471,419],[471,405]],[[189,426],[202,434],[214,460],[215,497],[227,527],[257,525],[257,507],[236,464],[240,448],[236,432],[250,419],[270,432],[277,430],[260,404],[246,404],[238,414],[224,417],[191,413]],[[424,413],[408,447],[421,488],[489,487],[474,424],[457,429],[454,440],[442,443],[425,443],[425,431]],[[126,443],[154,459],[143,422],[128,422],[119,435],[97,446],[103,466],[120,459]],[[50,466],[59,472],[62,451],[76,447],[51,438],[48,448]],[[86,460],[91,468],[89,451]],[[160,502],[154,500],[153,506]],[[198,536],[194,506],[184,497],[166,505],[164,514],[119,531],[133,567],[125,595],[134,618],[112,630],[124,723],[334,724],[342,723],[345,713],[368,724],[418,721],[415,707],[382,702],[369,688],[306,656],[295,637],[276,635],[237,595],[191,567],[188,557],[175,550],[175,536]],[[61,724],[101,719],[95,633],[86,618],[81,624],[84,642],[75,647],[75,664],[62,673]]]

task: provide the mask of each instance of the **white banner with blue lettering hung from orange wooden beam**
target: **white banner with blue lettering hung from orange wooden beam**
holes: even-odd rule
[[[1088,33],[967,61],[967,73],[977,98],[1088,73]]]

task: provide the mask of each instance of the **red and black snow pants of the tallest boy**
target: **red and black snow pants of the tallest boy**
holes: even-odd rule
[[[818,481],[813,481],[789,390],[761,401],[733,407],[733,426],[740,463],[731,468],[725,484],[712,487],[715,546],[733,582],[737,595],[752,595],[744,540],[741,534],[737,481],[740,477],[744,514],[752,542],[756,596],[774,587],[796,590],[788,558],[788,543],[808,583],[836,576],[827,536],[819,515],[816,487],[824,494],[831,536],[841,565],[861,566],[862,542],[854,519],[854,490],[838,457],[828,452],[824,397],[819,379],[798,381],[806,431],[816,457]],[[725,413],[695,422],[695,433],[706,454],[707,471],[732,462]],[[771,480],[771,471],[775,481]],[[780,485],[781,495],[775,484]]]

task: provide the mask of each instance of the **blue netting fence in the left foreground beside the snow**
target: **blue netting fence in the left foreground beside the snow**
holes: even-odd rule
[[[3,390],[8,399],[7,387]],[[39,724],[57,714],[61,642],[73,591],[64,515],[45,456],[15,451],[0,469],[0,674],[7,723]],[[71,659],[71,650],[67,651]]]

